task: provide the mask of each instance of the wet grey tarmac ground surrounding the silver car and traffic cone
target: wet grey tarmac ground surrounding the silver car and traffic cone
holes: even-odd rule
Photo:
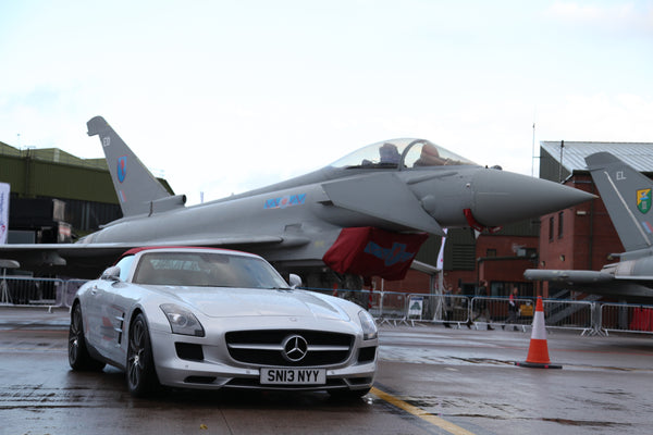
[[[375,390],[170,390],[135,399],[124,374],[72,372],[67,311],[0,308],[0,434],[651,433],[653,337],[553,332],[563,370],[514,365],[530,333],[383,326]]]

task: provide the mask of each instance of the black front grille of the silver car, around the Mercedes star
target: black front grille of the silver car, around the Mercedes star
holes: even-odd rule
[[[308,346],[306,355],[296,361],[284,358],[283,345],[292,336],[304,338]],[[348,334],[304,330],[236,331],[226,333],[225,339],[229,352],[236,361],[281,366],[338,364],[349,358],[354,344],[354,336]]]

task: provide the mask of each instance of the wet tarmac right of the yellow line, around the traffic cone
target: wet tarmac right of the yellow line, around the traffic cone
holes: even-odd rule
[[[650,336],[553,333],[549,352],[563,370],[543,370],[513,365],[529,334],[435,331],[385,331],[377,386],[401,381],[398,397],[473,433],[651,433]]]

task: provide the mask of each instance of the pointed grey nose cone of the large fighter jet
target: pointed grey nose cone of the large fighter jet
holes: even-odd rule
[[[471,187],[471,212],[485,226],[539,217],[596,198],[562,184],[497,170],[479,171]]]

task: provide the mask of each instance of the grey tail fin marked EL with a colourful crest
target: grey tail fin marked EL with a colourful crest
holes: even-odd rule
[[[599,194],[626,251],[653,245],[653,182],[609,152],[586,158]]]

